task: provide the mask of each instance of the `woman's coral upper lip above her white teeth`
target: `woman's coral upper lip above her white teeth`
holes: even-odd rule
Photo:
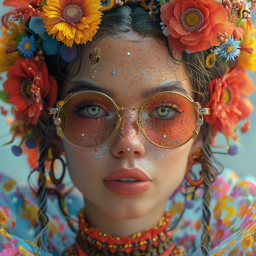
[[[115,171],[104,177],[103,180],[118,180],[126,177],[134,178],[139,181],[151,181],[150,177],[139,168],[117,168]]]

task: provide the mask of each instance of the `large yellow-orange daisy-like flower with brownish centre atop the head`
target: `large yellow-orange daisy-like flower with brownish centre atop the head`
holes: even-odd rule
[[[92,41],[101,22],[99,0],[47,0],[40,15],[46,31],[72,46]]]

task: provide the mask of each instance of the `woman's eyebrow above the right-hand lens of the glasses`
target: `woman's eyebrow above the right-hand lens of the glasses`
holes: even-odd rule
[[[158,92],[171,92],[171,91],[180,92],[182,94],[188,94],[188,92],[184,89],[184,87],[182,87],[182,85],[178,81],[170,81],[170,82],[166,81],[164,83],[160,83],[156,87],[147,88],[143,92],[143,97],[145,99],[148,99],[150,96]]]

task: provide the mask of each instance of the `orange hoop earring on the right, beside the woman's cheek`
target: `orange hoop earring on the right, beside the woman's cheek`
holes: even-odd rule
[[[186,178],[187,182],[189,182],[189,184],[191,184],[191,186],[198,187],[204,181],[203,170],[199,172],[200,178],[198,180],[193,180],[191,178],[191,176],[194,176],[194,177],[196,176],[192,171],[192,167],[195,166],[196,164],[201,164],[201,166],[202,166],[203,159],[204,159],[204,157],[202,155],[201,149],[198,149],[197,152],[192,157],[189,158],[189,163],[186,168],[185,178]]]

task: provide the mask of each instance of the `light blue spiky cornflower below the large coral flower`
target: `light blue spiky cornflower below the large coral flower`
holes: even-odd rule
[[[235,57],[240,55],[239,46],[240,40],[236,40],[233,36],[229,36],[229,40],[225,44],[220,45],[219,56],[220,58],[226,58],[226,61],[235,60]]]

